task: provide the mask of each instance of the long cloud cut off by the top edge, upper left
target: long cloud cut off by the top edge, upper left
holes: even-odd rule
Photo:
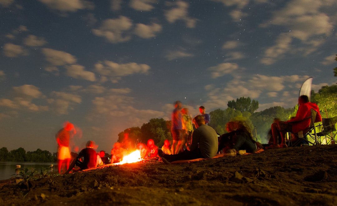
[[[59,10],[76,12],[79,9],[93,9],[93,3],[85,0],[39,0],[48,7]]]

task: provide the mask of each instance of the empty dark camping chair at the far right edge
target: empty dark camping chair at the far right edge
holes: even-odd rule
[[[323,130],[321,132],[317,133],[317,136],[321,138],[322,136],[325,136],[325,141],[327,145],[329,143],[333,144],[335,142],[335,137],[336,137],[336,122],[337,122],[337,117],[331,117],[331,118],[322,118],[322,125],[323,125]]]

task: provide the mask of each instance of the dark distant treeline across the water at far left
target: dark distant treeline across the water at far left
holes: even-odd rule
[[[57,162],[56,153],[37,149],[26,152],[22,147],[8,152],[7,148],[0,149],[0,162]]]

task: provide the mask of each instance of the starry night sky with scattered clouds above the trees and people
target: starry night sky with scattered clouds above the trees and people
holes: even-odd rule
[[[336,0],[0,0],[0,148],[56,152],[64,121],[110,153],[173,103],[294,107],[336,83]],[[212,117],[211,117],[212,121]],[[257,128],[258,129],[258,128]]]

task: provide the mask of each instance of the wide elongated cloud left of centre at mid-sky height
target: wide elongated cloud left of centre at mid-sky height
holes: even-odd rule
[[[132,74],[146,74],[149,70],[150,66],[134,62],[118,64],[113,61],[105,60],[95,64],[95,71],[102,76],[110,77],[112,81],[118,80],[114,77],[122,77]]]

